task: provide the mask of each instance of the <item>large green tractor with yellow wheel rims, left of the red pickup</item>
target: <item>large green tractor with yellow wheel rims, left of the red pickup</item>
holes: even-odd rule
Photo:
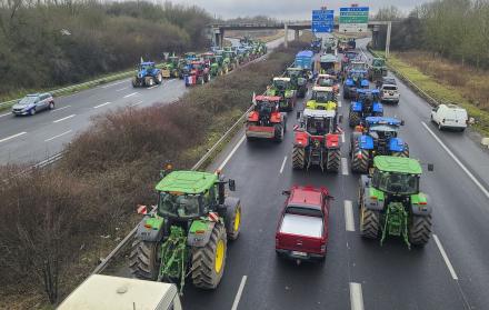
[[[170,167],[171,169],[171,167]],[[236,240],[241,204],[228,197],[234,180],[219,172],[162,171],[157,184],[156,211],[138,209],[144,218],[138,227],[130,254],[136,278],[170,281],[180,287],[187,277],[200,289],[216,289],[224,272],[228,240]]]

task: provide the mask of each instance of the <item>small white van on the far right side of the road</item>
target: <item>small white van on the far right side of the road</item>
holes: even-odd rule
[[[467,111],[456,104],[440,104],[431,110],[431,121],[438,124],[440,130],[458,129],[466,130],[469,118]]]

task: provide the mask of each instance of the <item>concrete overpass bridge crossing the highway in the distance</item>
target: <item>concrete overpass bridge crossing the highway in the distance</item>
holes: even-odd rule
[[[379,39],[380,28],[387,28],[386,37],[386,57],[389,56],[390,46],[390,33],[391,33],[391,21],[369,21],[368,29],[372,32],[372,41],[376,43]],[[224,38],[226,31],[230,30],[268,30],[268,29],[283,29],[286,31],[285,44],[288,46],[288,33],[289,30],[295,31],[293,39],[299,38],[300,30],[311,29],[311,21],[280,21],[280,22],[268,22],[268,23],[212,23],[209,24],[210,32],[212,33],[212,42],[216,46],[222,46],[222,40]],[[339,24],[335,23],[335,29],[339,29]]]

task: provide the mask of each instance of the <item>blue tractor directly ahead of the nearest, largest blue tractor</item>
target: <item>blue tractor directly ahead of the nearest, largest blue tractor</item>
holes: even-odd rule
[[[355,101],[351,101],[348,122],[350,127],[359,126],[368,117],[382,117],[383,106],[380,103],[378,89],[357,89]]]

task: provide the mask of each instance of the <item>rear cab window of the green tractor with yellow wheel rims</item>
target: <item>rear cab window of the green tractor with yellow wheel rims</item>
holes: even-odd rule
[[[199,217],[199,196],[160,192],[159,213],[178,218]]]

